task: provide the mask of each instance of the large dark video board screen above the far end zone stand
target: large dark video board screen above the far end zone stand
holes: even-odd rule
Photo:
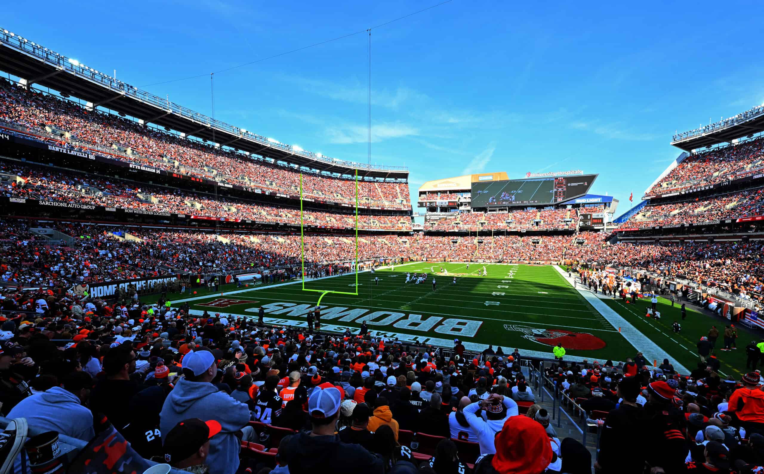
[[[473,182],[471,206],[497,208],[551,205],[588,193],[597,175]]]

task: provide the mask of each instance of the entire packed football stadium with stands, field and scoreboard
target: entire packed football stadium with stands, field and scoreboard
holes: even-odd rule
[[[414,179],[367,31],[364,161],[0,28],[0,474],[759,472],[764,105]]]

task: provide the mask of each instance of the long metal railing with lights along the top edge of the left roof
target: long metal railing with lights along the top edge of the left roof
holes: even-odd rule
[[[379,166],[366,163],[356,163],[347,160],[339,160],[337,158],[323,156],[321,153],[313,153],[311,151],[301,150],[299,147],[293,147],[291,145],[287,145],[286,143],[280,143],[279,141],[273,140],[272,138],[253,134],[252,132],[245,131],[244,129],[235,127],[231,124],[227,124],[223,121],[219,121],[215,118],[210,118],[204,114],[199,114],[199,112],[183,107],[183,105],[178,105],[175,102],[170,102],[167,100],[167,98],[161,98],[157,95],[145,92],[141,89],[138,89],[134,85],[122,82],[112,76],[100,73],[91,67],[79,63],[79,61],[70,59],[66,56],[56,53],[53,50],[49,50],[40,44],[35,44],[33,41],[29,41],[27,38],[18,36],[18,34],[14,34],[11,31],[5,29],[0,30],[0,42],[5,44],[7,47],[25,53],[27,56],[60,69],[62,72],[70,73],[74,76],[79,76],[83,79],[87,79],[90,82],[94,82],[98,85],[102,85],[105,88],[111,89],[115,95],[129,95],[140,102],[154,105],[155,107],[166,111],[168,114],[176,114],[180,115],[180,117],[187,118],[188,120],[193,121],[194,124],[206,125],[209,128],[215,128],[216,130],[227,132],[228,134],[233,134],[237,137],[243,138],[244,140],[251,140],[255,143],[265,145],[266,147],[277,148],[288,153],[292,153],[293,155],[303,156],[310,160],[316,160],[331,166],[345,166],[351,169],[375,169],[401,172],[408,171],[408,167],[406,166]]]

